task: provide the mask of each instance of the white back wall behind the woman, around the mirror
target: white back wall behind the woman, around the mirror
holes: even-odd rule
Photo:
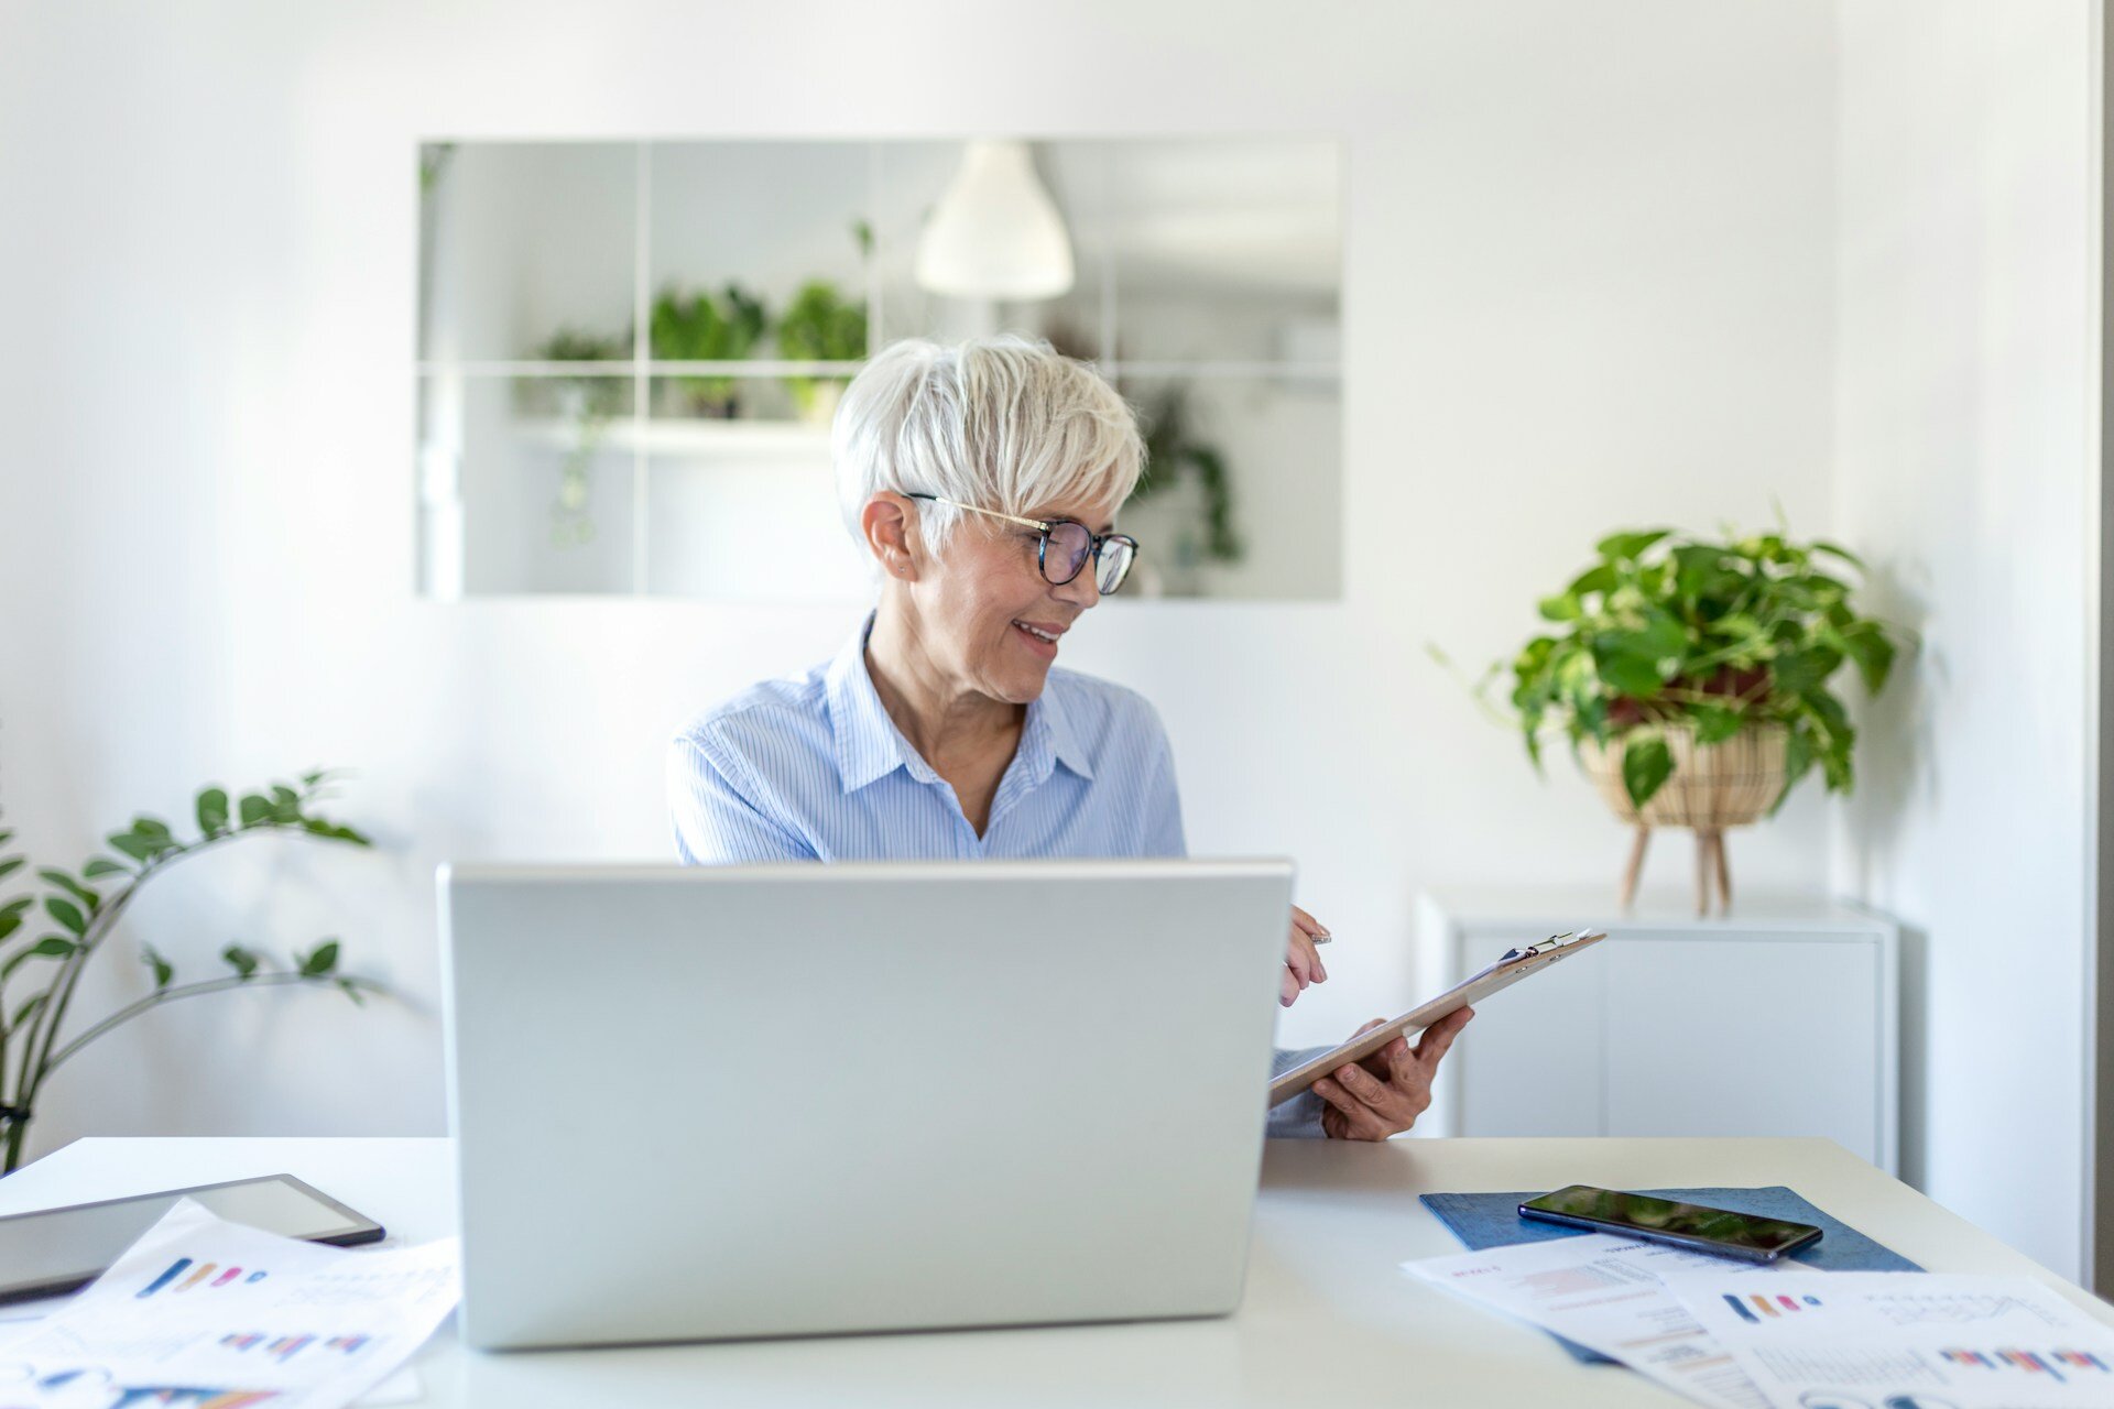
[[[433,864],[664,856],[668,729],[850,625],[412,596],[421,137],[1342,135],[1345,600],[1110,604],[1065,649],[1158,701],[1197,851],[1300,860],[1340,942],[1285,1033],[1323,1039],[1408,995],[1418,887],[1621,864],[1425,642],[1509,653],[1611,526],[1829,528],[1833,53],[1820,0],[0,8],[0,801],[63,858],[357,765],[378,853],[201,860],[131,929],[342,934],[406,995],[154,1016],[38,1147],[438,1130]],[[1818,887],[1824,828],[1742,834],[1740,881]]]

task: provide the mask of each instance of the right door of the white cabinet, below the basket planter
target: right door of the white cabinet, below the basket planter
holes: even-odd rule
[[[1605,948],[1607,1134],[1822,1134],[1879,1160],[1875,944]]]

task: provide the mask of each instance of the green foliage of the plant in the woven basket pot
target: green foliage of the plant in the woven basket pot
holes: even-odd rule
[[[1788,735],[1776,807],[1814,767],[1829,792],[1852,788],[1856,729],[1831,680],[1854,665],[1877,695],[1909,640],[1852,606],[1856,556],[1782,532],[1712,541],[1666,528],[1609,534],[1596,553],[1541,598],[1556,630],[1509,663],[1535,767],[1552,727],[1573,748],[1621,737],[1624,790],[1643,807],[1674,771],[1668,729],[1693,729],[1704,746],[1774,722]],[[1503,670],[1490,665],[1478,695]]]

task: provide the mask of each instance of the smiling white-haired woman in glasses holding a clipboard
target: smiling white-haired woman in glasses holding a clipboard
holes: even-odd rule
[[[896,342],[831,437],[877,608],[827,665],[706,710],[670,752],[685,862],[1182,856],[1167,733],[1144,697],[1053,670],[1123,585],[1114,532],[1144,461],[1123,397],[1023,338]],[[1328,978],[1292,910],[1281,1001]],[[1315,1082],[1271,1134],[1408,1130],[1471,1014]],[[1366,1029],[1359,1029],[1366,1031]],[[1279,1071],[1311,1052],[1279,1052]]]

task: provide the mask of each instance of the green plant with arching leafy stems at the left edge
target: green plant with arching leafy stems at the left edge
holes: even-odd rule
[[[258,951],[235,942],[220,951],[226,974],[184,984],[175,982],[175,965],[159,948],[142,942],[140,961],[154,978],[152,993],[78,1033],[70,1035],[66,1029],[82,970],[110,940],[140,889],[175,862],[262,834],[372,845],[361,832],[313,811],[317,801],[330,796],[332,777],[336,775],[328,771],[302,773],[300,786],[271,784],[233,805],[222,788],[205,788],[194,803],[197,837],[178,837],[167,822],[140,815],[108,837],[116,856],[91,856],[78,872],[38,866],[34,870],[40,881],[38,891],[0,902],[0,1141],[4,1141],[0,1175],[21,1164],[30,1120],[51,1075],[97,1037],[163,1003],[224,989],[277,984],[338,989],[355,1003],[364,1001],[366,993],[385,993],[378,982],[338,967],[340,948],[334,938],[296,953],[288,967],[277,967]],[[13,839],[13,832],[0,830],[0,849]],[[0,881],[25,864],[23,856],[0,853]],[[49,921],[49,929],[32,938],[32,919],[38,917]]]

